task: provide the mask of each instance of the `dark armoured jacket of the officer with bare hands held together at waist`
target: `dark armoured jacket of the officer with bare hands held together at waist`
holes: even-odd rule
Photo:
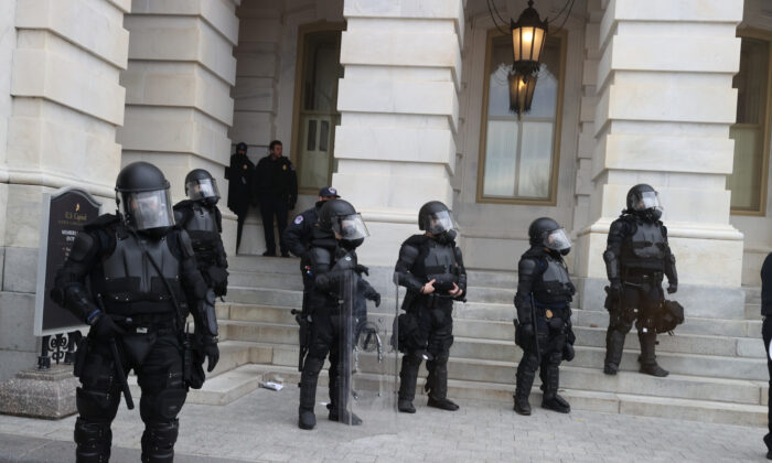
[[[399,248],[399,258],[394,268],[399,286],[407,288],[403,309],[410,310],[415,303],[427,303],[429,298],[441,298],[451,301],[447,289],[439,287],[450,286],[454,282],[463,292],[453,298],[464,300],[467,297],[467,269],[463,266],[461,249],[455,247],[455,241],[440,244],[433,237],[427,235],[412,235],[403,243]],[[423,284],[430,280],[437,280],[432,294],[420,294]]]

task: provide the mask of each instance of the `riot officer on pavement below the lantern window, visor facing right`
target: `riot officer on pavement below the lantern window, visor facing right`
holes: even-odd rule
[[[573,358],[569,304],[576,289],[562,260],[571,250],[571,241],[549,217],[534,220],[528,238],[530,249],[517,263],[515,342],[523,348],[523,357],[517,365],[514,408],[519,414],[530,414],[528,396],[539,369],[542,407],[568,413],[571,407],[558,395],[558,367],[564,358]]]

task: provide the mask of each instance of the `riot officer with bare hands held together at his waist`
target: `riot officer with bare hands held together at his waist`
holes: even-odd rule
[[[412,400],[421,359],[427,360],[429,377],[426,390],[429,407],[458,410],[448,399],[448,357],[453,344],[453,301],[464,300],[467,270],[461,249],[455,246],[455,230],[448,207],[430,201],[418,213],[418,227],[423,235],[414,235],[403,243],[395,267],[397,283],[407,288],[400,315],[399,411],[415,413]],[[410,332],[415,334],[410,335]]]

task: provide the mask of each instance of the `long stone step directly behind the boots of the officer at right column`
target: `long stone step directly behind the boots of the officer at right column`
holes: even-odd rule
[[[227,315],[221,312],[221,319],[233,321],[277,323],[291,327],[296,326],[294,315],[290,308],[259,308],[254,305],[232,304]],[[377,322],[386,331],[390,331],[394,321],[392,313],[371,313],[371,321]],[[605,346],[605,327],[575,326],[578,346]],[[490,341],[514,340],[514,326],[511,322],[455,319],[453,333],[458,337],[480,338]],[[294,335],[288,335],[288,340]],[[673,352],[697,355],[739,356],[764,358],[763,343],[758,338],[698,335],[677,332],[674,336],[658,336],[658,352]],[[639,349],[637,335],[632,331],[625,338],[625,348]],[[476,357],[475,357],[476,358]],[[483,357],[485,358],[485,357]]]

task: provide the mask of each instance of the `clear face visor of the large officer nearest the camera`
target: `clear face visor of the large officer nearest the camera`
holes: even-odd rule
[[[137,230],[171,227],[174,225],[169,190],[126,192],[121,195],[121,212],[127,225]]]

